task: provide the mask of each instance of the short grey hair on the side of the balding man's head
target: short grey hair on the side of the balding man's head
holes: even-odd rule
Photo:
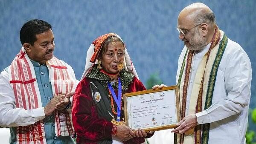
[[[195,14],[194,17],[195,25],[199,25],[201,23],[207,23],[207,24],[215,24],[215,14],[211,11],[209,12],[201,12],[199,14]]]

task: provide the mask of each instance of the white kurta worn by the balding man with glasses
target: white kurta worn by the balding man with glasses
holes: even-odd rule
[[[209,49],[209,46],[206,46]],[[181,52],[176,81],[186,53]],[[204,55],[204,50],[195,53],[192,59],[189,86],[192,86],[196,69]],[[202,55],[203,54],[203,55]],[[195,69],[193,71],[193,69]],[[250,104],[250,86],[252,70],[250,59],[238,43],[228,39],[220,65],[218,67],[212,105],[196,114],[198,124],[210,123],[208,144],[244,144],[247,130],[248,109]],[[191,87],[188,87],[188,97]],[[190,98],[188,98],[190,99]],[[189,107],[187,101],[186,109]]]

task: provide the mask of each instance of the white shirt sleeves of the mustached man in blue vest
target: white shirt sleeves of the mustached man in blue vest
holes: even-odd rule
[[[65,65],[70,76],[76,80],[74,70],[67,63]],[[78,83],[79,81],[76,80],[74,86],[76,87]],[[72,98],[70,98],[70,101],[72,101]],[[9,82],[9,74],[4,70],[0,75],[0,126],[27,126],[45,118],[44,107],[25,110],[16,108],[15,103],[15,95]]]

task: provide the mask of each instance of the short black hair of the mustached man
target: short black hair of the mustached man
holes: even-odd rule
[[[44,20],[29,20],[20,29],[20,42],[22,45],[30,43],[33,46],[37,40],[35,35],[47,32],[49,29],[52,29],[52,26]]]

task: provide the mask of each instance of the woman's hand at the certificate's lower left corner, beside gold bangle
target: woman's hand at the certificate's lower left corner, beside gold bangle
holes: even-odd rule
[[[134,138],[135,132],[133,132],[129,127],[125,125],[117,126],[116,137],[121,139],[122,141],[128,141],[131,138]]]

